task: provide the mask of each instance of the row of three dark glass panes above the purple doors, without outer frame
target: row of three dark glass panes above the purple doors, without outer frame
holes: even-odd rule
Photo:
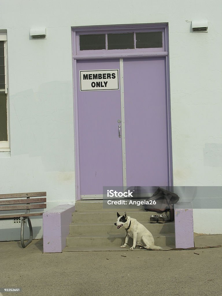
[[[162,48],[162,31],[156,32],[127,32],[104,34],[80,34],[79,49],[141,49]]]

